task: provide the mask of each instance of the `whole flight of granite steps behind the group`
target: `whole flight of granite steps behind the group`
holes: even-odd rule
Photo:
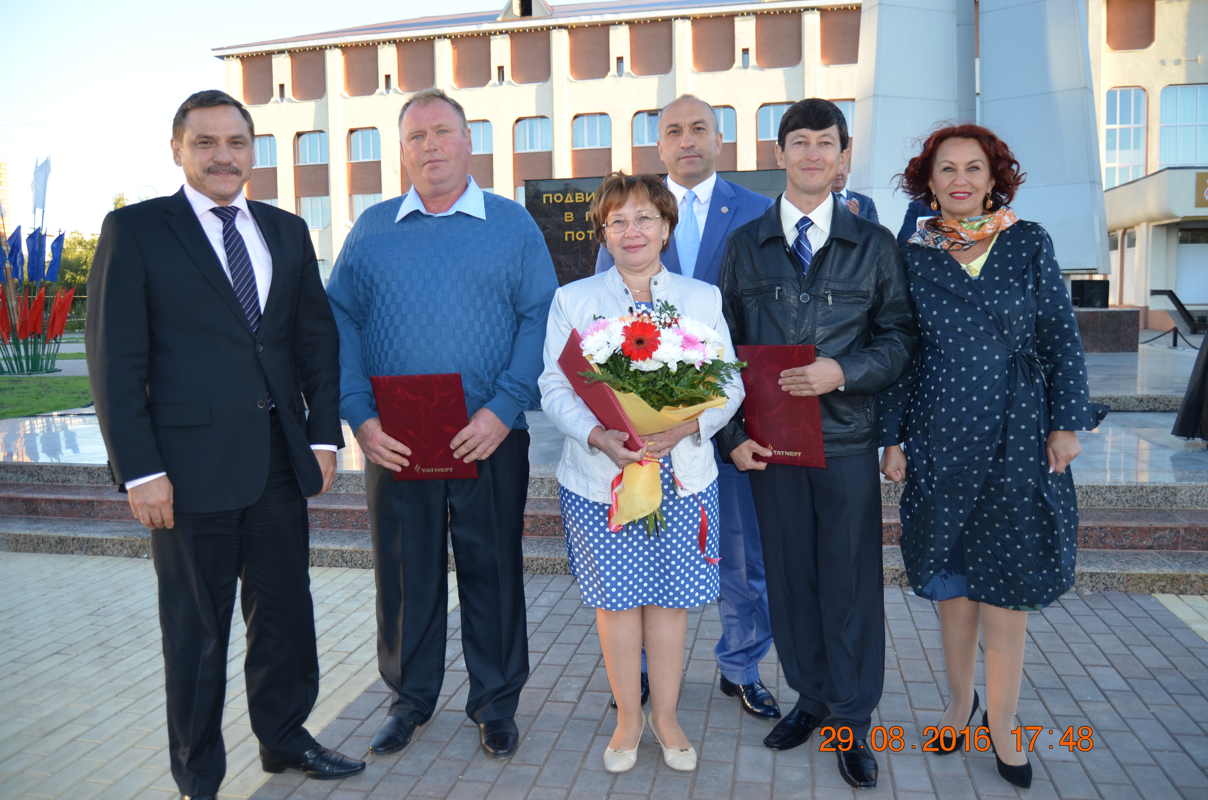
[[[553,465],[534,465],[524,510],[527,573],[569,572],[557,489]],[[1208,593],[1208,486],[1079,485],[1078,494],[1079,587]],[[896,546],[899,495],[899,487],[882,485],[887,585],[907,585]],[[331,492],[310,500],[309,518],[314,566],[372,568],[360,473],[339,473]],[[150,539],[108,466],[0,464],[0,550],[145,558]]]

